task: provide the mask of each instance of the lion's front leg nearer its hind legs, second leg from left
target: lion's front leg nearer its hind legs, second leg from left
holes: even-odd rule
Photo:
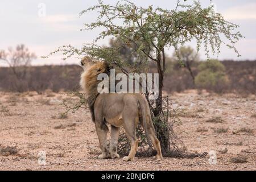
[[[119,158],[119,155],[117,154],[117,143],[118,143],[118,137],[119,137],[119,127],[111,126],[111,140],[110,140],[110,156],[111,158]]]

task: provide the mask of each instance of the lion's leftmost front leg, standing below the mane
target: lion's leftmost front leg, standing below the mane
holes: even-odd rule
[[[109,150],[108,150],[108,144],[107,144],[107,132],[108,132],[108,126],[103,126],[105,123],[98,123],[95,122],[96,131],[98,135],[98,140],[100,142],[100,147],[102,153],[98,156],[98,159],[106,159],[109,158]]]

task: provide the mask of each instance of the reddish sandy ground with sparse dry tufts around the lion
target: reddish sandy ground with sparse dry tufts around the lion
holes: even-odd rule
[[[97,159],[97,134],[88,110],[59,119],[63,94],[0,93],[0,170],[255,170],[255,96],[223,96],[195,91],[172,94],[172,107],[183,110],[177,134],[188,151],[216,152],[216,164],[204,158]],[[207,122],[221,117],[221,123]],[[4,149],[14,147],[14,154]],[[228,151],[226,151],[228,150]],[[42,153],[43,152],[43,153]],[[46,154],[46,164],[40,160]],[[16,153],[16,154],[15,154]],[[222,154],[224,153],[224,154]],[[245,163],[232,158],[245,157]]]

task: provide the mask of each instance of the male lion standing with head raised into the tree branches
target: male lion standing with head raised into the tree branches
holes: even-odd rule
[[[84,72],[81,75],[80,85],[88,94],[88,104],[92,114],[93,122],[96,126],[98,139],[102,154],[98,159],[119,158],[117,154],[117,143],[119,137],[119,128],[124,127],[127,138],[131,143],[131,150],[128,156],[123,160],[134,160],[137,152],[138,139],[136,138],[135,127],[140,122],[143,126],[146,136],[153,143],[156,150],[155,159],[162,160],[162,152],[159,140],[155,137],[155,129],[151,120],[148,102],[142,94],[118,94],[102,93],[97,91],[97,85],[100,81],[97,76],[100,73],[109,72],[108,64],[100,61],[93,61],[89,57],[81,60]],[[110,148],[107,147],[108,126],[111,125]]]

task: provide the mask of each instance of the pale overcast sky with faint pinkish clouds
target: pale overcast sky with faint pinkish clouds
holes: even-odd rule
[[[182,1],[182,0],[181,0]],[[187,2],[192,0],[187,0]],[[105,3],[114,4],[117,1],[105,0]],[[138,6],[162,7],[174,9],[176,0],[142,1],[133,0]],[[255,0],[201,0],[203,7],[210,3],[218,13],[232,23],[240,25],[238,28],[245,38],[236,45],[242,55],[237,57],[232,50],[221,47],[218,59],[255,60],[256,59],[256,1]],[[90,6],[96,5],[97,1],[86,0],[1,0],[0,1],[0,49],[15,47],[17,44],[25,44],[31,52],[35,52],[38,58],[32,65],[45,64],[79,64],[79,59],[73,57],[69,60],[61,60],[61,54],[53,55],[49,59],[41,56],[48,55],[57,47],[71,44],[81,47],[84,43],[91,43],[100,30],[80,31],[84,28],[83,23],[92,22],[97,14],[87,13],[79,16],[79,13]],[[108,45],[109,39],[101,40],[99,44]],[[187,45],[195,48],[195,43]],[[172,55],[172,49],[167,54]],[[205,59],[204,51],[200,51],[201,59]],[[217,58],[217,55],[210,55]],[[0,60],[0,65],[4,65]]]

